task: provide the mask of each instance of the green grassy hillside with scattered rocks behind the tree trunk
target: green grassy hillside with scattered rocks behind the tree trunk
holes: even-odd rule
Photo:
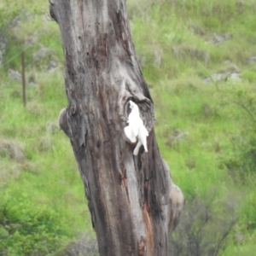
[[[256,2],[127,5],[160,151],[187,200],[170,255],[254,255]],[[67,106],[58,26],[43,0],[0,3],[0,16],[0,254],[93,255],[83,184],[57,125]]]

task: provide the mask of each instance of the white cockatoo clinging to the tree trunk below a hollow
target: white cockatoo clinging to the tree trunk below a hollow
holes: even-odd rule
[[[145,152],[148,152],[147,148],[147,137],[148,131],[146,127],[143,125],[143,119],[140,117],[140,111],[137,107],[137,104],[134,102],[129,102],[131,113],[129,114],[127,123],[128,126],[125,127],[125,135],[129,138],[131,143],[136,143],[137,146],[134,148],[133,154],[137,155],[139,149],[143,145]]]

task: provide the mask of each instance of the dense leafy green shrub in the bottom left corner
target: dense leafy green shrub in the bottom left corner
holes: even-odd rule
[[[0,205],[2,255],[54,255],[68,236],[60,216],[50,209],[35,207],[24,198]]]

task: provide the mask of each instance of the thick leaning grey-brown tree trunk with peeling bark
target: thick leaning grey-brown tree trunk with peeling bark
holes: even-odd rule
[[[60,125],[79,164],[99,251],[104,256],[167,254],[183,195],[154,136],[154,105],[143,79],[125,0],[49,0],[66,58],[69,105]],[[146,126],[148,153],[133,155],[124,128],[129,100]]]

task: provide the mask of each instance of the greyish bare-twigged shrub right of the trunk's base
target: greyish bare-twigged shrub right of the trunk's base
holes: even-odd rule
[[[233,198],[219,202],[216,193],[189,198],[180,224],[172,234],[170,255],[217,256],[227,247],[227,238],[238,218]]]

